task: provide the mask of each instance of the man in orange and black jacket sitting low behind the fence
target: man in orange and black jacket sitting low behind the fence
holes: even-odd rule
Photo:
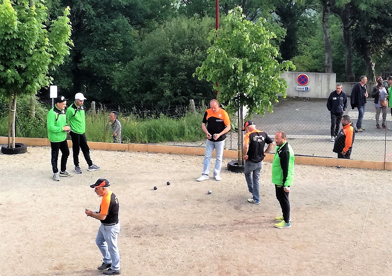
[[[350,159],[352,144],[355,139],[354,125],[348,115],[342,117],[343,128],[338,133],[335,139],[333,152],[338,153],[338,158]]]

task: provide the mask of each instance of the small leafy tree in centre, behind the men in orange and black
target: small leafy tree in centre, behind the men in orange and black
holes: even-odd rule
[[[241,7],[229,11],[222,27],[211,32],[209,39],[214,43],[194,73],[199,79],[211,81],[214,89],[219,90],[218,100],[227,103],[230,110],[238,110],[238,114],[242,114],[242,106],[247,106],[249,116],[264,115],[266,109],[272,112],[278,94],[286,97],[287,84],[279,74],[295,70],[291,61],[276,60],[279,52],[270,41],[276,35],[264,23],[263,18],[256,23],[246,20]],[[243,118],[238,117],[238,164],[242,164]]]

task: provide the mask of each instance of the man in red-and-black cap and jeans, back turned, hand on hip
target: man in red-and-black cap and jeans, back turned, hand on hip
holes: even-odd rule
[[[252,121],[246,121],[242,131],[246,131],[242,151],[245,160],[244,173],[248,190],[253,197],[248,202],[260,204],[260,173],[263,168],[263,159],[274,147],[273,140],[267,133],[257,130]],[[268,144],[264,151],[265,144]]]

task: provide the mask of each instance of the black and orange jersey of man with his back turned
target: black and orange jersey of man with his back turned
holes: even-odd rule
[[[244,138],[244,143],[249,144],[248,160],[254,163],[259,163],[264,159],[264,146],[265,144],[272,143],[272,139],[267,133],[260,130],[253,130],[247,132]]]

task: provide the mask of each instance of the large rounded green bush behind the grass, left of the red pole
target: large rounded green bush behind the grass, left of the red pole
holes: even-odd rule
[[[124,101],[162,107],[211,99],[211,86],[192,74],[211,46],[205,37],[213,22],[209,17],[179,16],[150,32],[138,43],[134,60],[114,73],[114,90]]]

